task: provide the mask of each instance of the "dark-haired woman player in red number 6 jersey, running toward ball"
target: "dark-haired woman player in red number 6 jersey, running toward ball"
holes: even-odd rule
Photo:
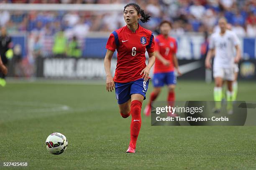
[[[115,88],[120,114],[123,118],[132,116],[131,141],[127,153],[135,153],[136,141],[141,129],[141,105],[146,99],[148,90],[148,75],[154,65],[154,35],[138,24],[148,22],[150,15],[145,14],[136,3],[125,5],[123,17],[126,26],[111,33],[106,48],[104,66],[106,71],[106,88],[113,91]],[[110,63],[114,51],[118,52],[115,77],[111,76]],[[146,65],[145,52],[149,60]]]

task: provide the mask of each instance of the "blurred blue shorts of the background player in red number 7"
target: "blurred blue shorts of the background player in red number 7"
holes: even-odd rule
[[[166,85],[175,85],[177,82],[174,71],[155,73],[153,78],[154,87],[163,87]]]

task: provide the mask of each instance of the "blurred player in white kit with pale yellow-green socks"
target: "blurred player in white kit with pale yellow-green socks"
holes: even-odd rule
[[[209,51],[205,59],[205,67],[211,69],[211,59],[215,51],[215,59],[213,61],[213,77],[215,79],[214,100],[215,112],[220,112],[222,99],[223,80],[227,80],[227,110],[232,113],[232,82],[235,78],[235,63],[240,60],[240,48],[238,38],[234,32],[227,30],[227,21],[225,18],[219,20],[220,32],[215,32],[210,37]],[[236,57],[233,48],[236,48]]]

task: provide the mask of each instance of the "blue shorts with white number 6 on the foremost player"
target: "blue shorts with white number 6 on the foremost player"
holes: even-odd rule
[[[118,100],[118,104],[127,102],[132,94],[141,94],[146,99],[146,92],[148,90],[148,81],[140,78],[132,82],[115,82],[115,95]]]

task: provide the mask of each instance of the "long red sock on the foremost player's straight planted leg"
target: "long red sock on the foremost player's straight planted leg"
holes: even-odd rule
[[[138,100],[133,100],[131,102],[131,141],[130,145],[136,148],[136,141],[138,134],[141,129],[141,106],[142,103]]]

